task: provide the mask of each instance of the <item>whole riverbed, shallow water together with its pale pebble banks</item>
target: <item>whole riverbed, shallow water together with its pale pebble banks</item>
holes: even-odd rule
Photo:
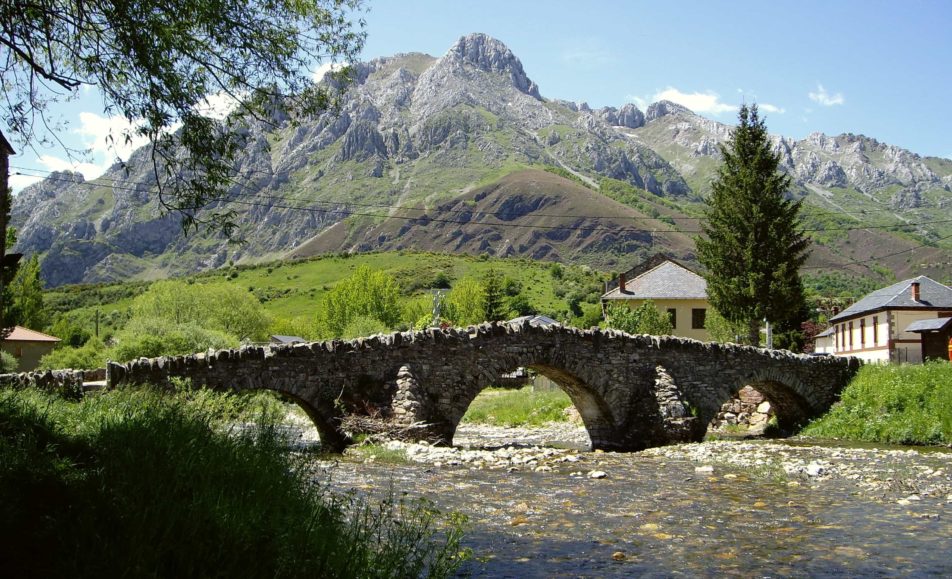
[[[352,447],[315,474],[467,517],[466,576],[952,576],[949,449],[788,439],[592,452],[571,423],[463,424],[454,444]]]

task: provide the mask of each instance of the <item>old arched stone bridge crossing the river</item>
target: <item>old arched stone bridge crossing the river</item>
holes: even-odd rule
[[[360,409],[398,424],[424,423],[423,434],[452,444],[476,395],[518,367],[547,376],[568,394],[593,449],[632,451],[700,440],[721,404],[745,385],[772,402],[781,427],[794,426],[824,413],[859,362],[613,330],[493,323],[110,363],[107,387],[161,386],[181,377],[216,390],[273,390],[304,408],[323,445],[341,450],[350,442],[341,420]]]

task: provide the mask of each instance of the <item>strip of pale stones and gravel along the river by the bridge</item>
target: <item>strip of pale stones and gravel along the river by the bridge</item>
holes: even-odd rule
[[[409,462],[437,468],[612,476],[607,463],[625,454],[583,451],[588,444],[584,428],[550,423],[540,428],[463,424],[454,447],[399,441],[382,446]],[[859,447],[809,439],[717,440],[651,448],[632,456],[690,463],[699,477],[730,480],[743,475],[791,487],[836,483],[866,500],[952,505],[952,451],[942,448]]]

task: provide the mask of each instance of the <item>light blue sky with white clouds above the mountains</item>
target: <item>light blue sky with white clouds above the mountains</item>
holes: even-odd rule
[[[757,103],[771,133],[863,134],[923,156],[952,158],[952,1],[907,0],[370,0],[362,59],[441,56],[483,32],[522,61],[545,98],[592,108],[657,100],[733,123]],[[96,93],[59,107],[60,137],[91,148],[82,165],[61,148],[11,158],[19,190],[44,171],[93,178],[118,154]],[[140,143],[133,143],[133,146]],[[32,171],[31,171],[32,169]],[[33,176],[16,175],[30,173]]]

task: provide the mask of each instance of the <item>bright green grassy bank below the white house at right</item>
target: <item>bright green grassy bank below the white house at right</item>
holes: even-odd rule
[[[864,366],[806,436],[895,444],[952,443],[952,364]]]

